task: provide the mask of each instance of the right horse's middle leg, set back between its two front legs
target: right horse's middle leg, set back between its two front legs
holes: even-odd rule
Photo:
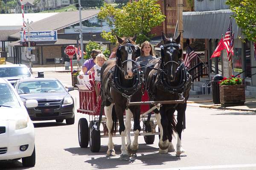
[[[175,112],[175,109],[174,108],[171,108],[168,113],[167,113],[167,118],[168,118],[168,121],[169,121],[169,124],[168,124],[168,130],[169,130],[169,136],[168,136],[168,140],[169,140],[169,146],[168,146],[168,152],[174,152],[175,149],[173,147],[173,144],[172,144],[172,134],[173,134],[173,130],[175,130],[175,117],[174,117],[174,112]]]

